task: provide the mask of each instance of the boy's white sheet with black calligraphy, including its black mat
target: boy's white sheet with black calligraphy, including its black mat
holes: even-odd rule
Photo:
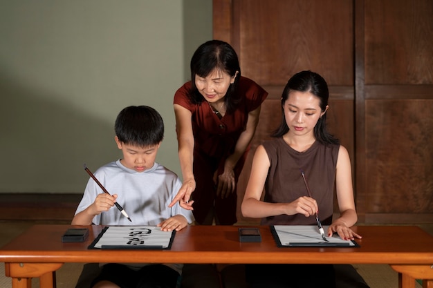
[[[170,249],[175,234],[154,226],[109,226],[89,249]]]

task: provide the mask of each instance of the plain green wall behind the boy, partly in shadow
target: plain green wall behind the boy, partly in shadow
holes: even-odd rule
[[[212,39],[212,0],[0,0],[0,193],[82,193],[121,156],[117,114],[156,108],[181,175],[173,95]]]

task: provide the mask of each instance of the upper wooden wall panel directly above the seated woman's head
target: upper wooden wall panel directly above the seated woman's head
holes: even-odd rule
[[[300,70],[313,70],[329,85],[353,85],[351,1],[233,2],[239,6],[233,21],[239,27],[243,75],[264,85],[284,85]]]

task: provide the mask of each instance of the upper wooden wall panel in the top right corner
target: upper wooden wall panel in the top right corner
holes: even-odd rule
[[[365,84],[433,84],[433,1],[365,2]]]

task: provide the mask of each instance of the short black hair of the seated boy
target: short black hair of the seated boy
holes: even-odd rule
[[[114,124],[120,142],[148,147],[163,141],[163,117],[149,106],[128,106],[120,111]]]

